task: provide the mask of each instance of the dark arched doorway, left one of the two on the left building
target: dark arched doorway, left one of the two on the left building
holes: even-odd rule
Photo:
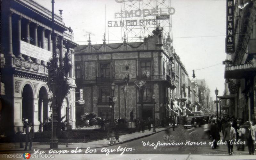
[[[22,91],[22,118],[34,122],[34,96],[32,87],[26,84]]]

